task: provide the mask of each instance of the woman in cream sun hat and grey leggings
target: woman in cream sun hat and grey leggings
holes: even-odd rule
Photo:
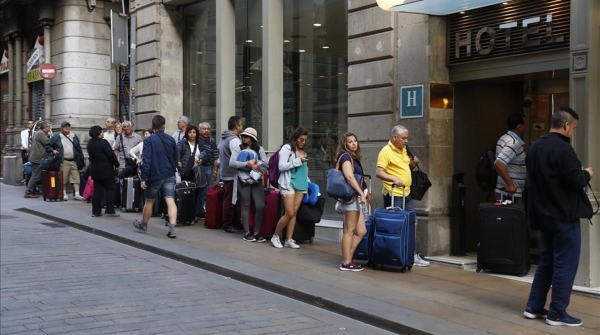
[[[242,144],[238,148],[232,148],[229,165],[235,167],[235,179],[233,180],[232,204],[239,201],[242,203],[242,225],[244,225],[244,241],[265,242],[265,238],[259,235],[262,226],[263,210],[265,209],[265,188],[263,187],[263,175],[260,170],[261,161],[266,161],[265,149],[259,145],[256,129],[248,127],[239,134]],[[257,159],[238,161],[242,150],[250,149]],[[251,152],[252,153],[252,152]],[[260,174],[255,179],[253,172]],[[250,201],[254,202],[254,232],[250,231]]]

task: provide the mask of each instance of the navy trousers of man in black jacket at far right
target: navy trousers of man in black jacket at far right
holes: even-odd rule
[[[559,222],[538,219],[541,222],[542,249],[535,272],[527,307],[541,310],[552,285],[552,301],[548,318],[562,318],[569,306],[571,289],[579,266],[581,226],[579,220]]]

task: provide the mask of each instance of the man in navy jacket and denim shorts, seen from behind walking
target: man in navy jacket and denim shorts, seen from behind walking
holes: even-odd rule
[[[158,192],[162,192],[167,203],[169,214],[169,232],[167,236],[175,238],[175,224],[177,220],[177,205],[175,204],[175,162],[177,161],[176,143],[173,137],[164,133],[165,119],[161,115],[152,118],[154,135],[144,140],[142,151],[142,171],[140,184],[146,194],[146,205],[142,220],[134,220],[133,226],[141,232],[148,231],[148,221],[152,216],[152,206],[158,199]]]

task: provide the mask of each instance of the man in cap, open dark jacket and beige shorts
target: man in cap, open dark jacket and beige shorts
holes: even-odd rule
[[[79,195],[79,169],[77,169],[77,154],[83,154],[83,151],[79,144],[79,137],[71,132],[71,124],[68,121],[62,121],[61,132],[52,136],[52,139],[48,141],[46,152],[51,152],[53,155],[61,155],[62,180],[65,188],[68,183],[73,184],[73,189],[75,190],[74,199],[79,201],[84,200]],[[65,193],[63,200],[68,200],[67,193]]]

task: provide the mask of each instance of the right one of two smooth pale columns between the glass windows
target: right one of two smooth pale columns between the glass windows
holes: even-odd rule
[[[262,145],[274,151],[283,139],[283,0],[262,1]]]

